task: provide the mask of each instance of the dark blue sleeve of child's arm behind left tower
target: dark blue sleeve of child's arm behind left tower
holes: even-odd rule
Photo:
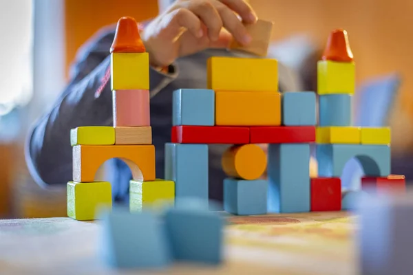
[[[70,82],[54,107],[34,123],[25,146],[30,174],[40,186],[66,184],[72,180],[70,129],[78,126],[112,125],[112,91],[96,89],[110,67],[109,48],[114,30],[99,32],[78,52]],[[156,94],[174,77],[149,68],[151,94]]]

